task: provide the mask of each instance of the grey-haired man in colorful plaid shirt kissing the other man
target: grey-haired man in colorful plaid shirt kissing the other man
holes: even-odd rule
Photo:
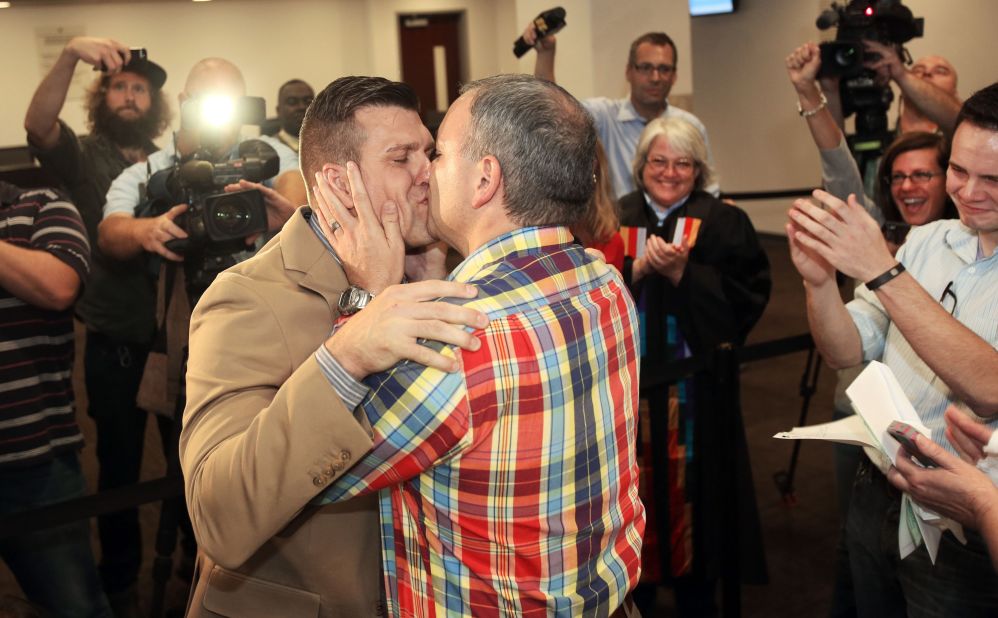
[[[644,532],[637,318],[567,227],[594,147],[579,103],[527,76],[469,84],[440,127],[428,228],[466,256],[449,278],[479,290],[448,302],[490,323],[473,351],[427,344],[457,371],[364,380],[374,449],[317,499],[380,491],[394,615],[624,615]]]

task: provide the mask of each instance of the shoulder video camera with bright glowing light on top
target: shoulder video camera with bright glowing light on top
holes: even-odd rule
[[[171,251],[191,255],[229,255],[246,249],[245,238],[267,230],[267,210],[259,191],[226,193],[240,180],[260,182],[277,175],[277,151],[250,139],[235,146],[242,125],[259,125],[265,117],[259,97],[200,97],[181,107],[181,132],[197,137],[194,151],[170,169],[149,178],[143,215],[158,216],[177,204],[188,204],[174,222],[188,237],[166,243]],[[235,158],[233,158],[235,157]]]

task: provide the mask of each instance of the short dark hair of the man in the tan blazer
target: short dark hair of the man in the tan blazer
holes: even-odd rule
[[[326,163],[356,161],[366,136],[357,126],[357,110],[401,107],[419,112],[419,97],[408,84],[383,77],[341,77],[316,95],[301,124],[299,164],[305,184]]]

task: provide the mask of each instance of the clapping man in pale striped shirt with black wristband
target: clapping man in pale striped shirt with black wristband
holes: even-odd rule
[[[787,236],[804,279],[808,323],[828,364],[881,360],[897,376],[932,439],[955,450],[943,412],[962,402],[998,426],[998,84],[976,93],[956,121],[946,190],[960,220],[913,230],[891,256],[880,227],[855,198],[823,191],[797,200]],[[865,281],[843,304],[835,270]],[[938,299],[938,300],[937,300]],[[861,615],[993,615],[998,576],[981,538],[962,546],[943,535],[935,564],[920,547],[899,559],[901,496],[864,460],[853,485],[849,561]],[[886,525],[885,525],[886,524]]]

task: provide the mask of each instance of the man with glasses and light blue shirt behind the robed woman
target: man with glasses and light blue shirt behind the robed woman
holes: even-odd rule
[[[537,39],[535,26],[531,22],[523,33],[523,40],[537,49],[534,75],[541,79],[555,81],[554,56],[555,37],[548,35]],[[655,118],[679,117],[686,120],[703,135],[707,144],[707,160],[714,165],[710,152],[707,129],[693,114],[669,105],[669,91],[676,83],[676,44],[664,32],[643,34],[631,43],[624,77],[631,86],[630,96],[623,99],[596,97],[583,99],[582,105],[593,116],[596,132],[603,142],[610,174],[613,178],[613,192],[618,199],[637,187],[632,176],[634,152],[638,148],[638,138],[645,125]],[[717,196],[720,188],[717,180],[706,187],[709,193]]]

